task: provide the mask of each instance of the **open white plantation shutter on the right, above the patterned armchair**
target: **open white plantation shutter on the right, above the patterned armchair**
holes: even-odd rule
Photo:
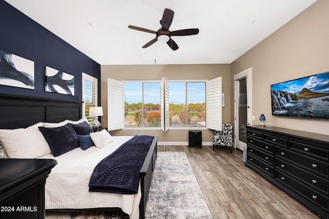
[[[222,77],[206,83],[206,126],[222,131]]]

